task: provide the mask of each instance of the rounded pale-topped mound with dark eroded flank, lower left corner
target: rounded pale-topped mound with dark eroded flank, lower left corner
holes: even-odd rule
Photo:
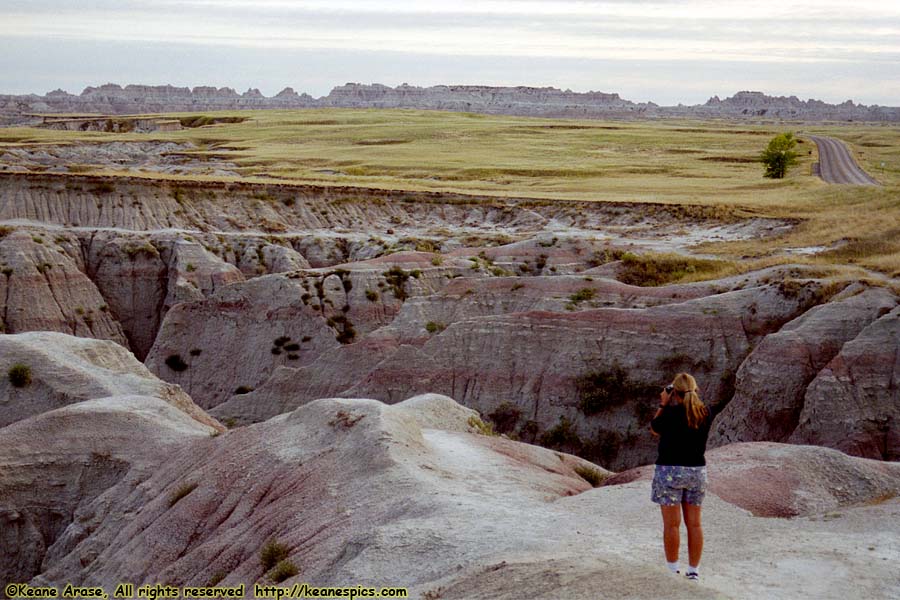
[[[91,563],[96,551],[76,550],[90,534],[79,508],[129,476],[137,485],[184,442],[215,431],[159,398],[128,395],[0,428],[0,578],[28,581],[60,552]]]

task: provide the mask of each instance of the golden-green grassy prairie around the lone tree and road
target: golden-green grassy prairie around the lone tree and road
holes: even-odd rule
[[[0,152],[7,144],[191,141],[200,157],[233,162],[242,176],[260,182],[722,206],[802,223],[774,241],[707,244],[705,253],[765,263],[783,260],[786,248],[840,246],[799,260],[900,275],[896,124],[601,122],[413,110],[204,114],[246,120],[150,134],[0,129]],[[166,115],[189,116],[196,115]],[[800,164],[784,180],[767,180],[755,159],[783,131],[800,138]],[[816,149],[804,133],[846,141],[884,185],[837,186],[812,176]]]

